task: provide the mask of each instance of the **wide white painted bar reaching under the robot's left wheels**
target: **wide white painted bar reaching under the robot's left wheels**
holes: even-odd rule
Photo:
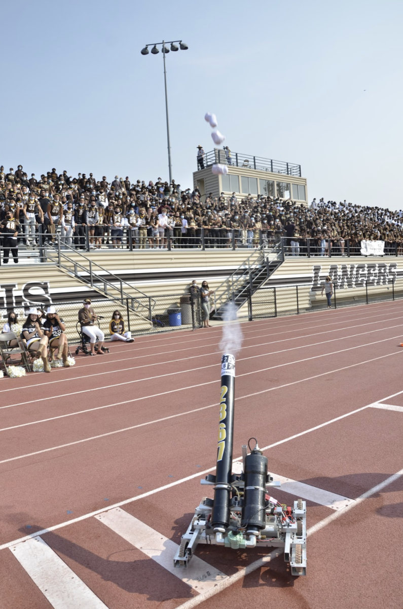
[[[187,569],[175,568],[173,557],[178,551],[178,544],[119,507],[98,514],[95,518],[198,593],[211,590],[228,577],[197,556],[192,558]]]

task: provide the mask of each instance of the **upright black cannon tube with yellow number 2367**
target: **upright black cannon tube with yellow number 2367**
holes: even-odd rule
[[[211,524],[216,532],[225,532],[230,524],[231,475],[234,438],[235,357],[226,353],[221,360],[221,396],[219,443],[217,448],[216,487]]]

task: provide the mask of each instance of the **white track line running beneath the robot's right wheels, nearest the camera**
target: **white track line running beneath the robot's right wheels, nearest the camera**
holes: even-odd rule
[[[314,535],[314,533],[317,533],[319,530],[328,526],[328,524],[331,524],[334,520],[340,518],[340,516],[343,516],[353,507],[356,507],[356,505],[362,504],[365,499],[368,499],[373,495],[376,495],[376,493],[379,493],[379,491],[392,484],[392,482],[398,480],[399,477],[401,477],[402,475],[403,470],[398,471],[396,474],[393,474],[393,476],[388,477],[384,482],[377,484],[376,487],[370,488],[369,491],[366,491],[366,493],[360,495],[354,503],[348,505],[343,510],[340,510],[339,512],[334,512],[327,518],[323,518],[323,520],[321,520],[317,524],[314,524],[314,526],[310,527],[310,529],[307,530],[307,536],[310,537],[310,535]],[[245,576],[252,573],[253,571],[256,571],[256,569],[260,569],[266,566],[267,563],[270,563],[270,561],[274,560],[276,556],[279,556],[280,554],[281,552],[279,552],[278,550],[273,550],[272,552],[270,552],[270,554],[262,558],[258,558],[258,560],[255,560],[254,563],[251,563],[244,569],[239,569],[239,571],[234,573],[234,575],[228,577],[225,581],[217,583],[217,586],[212,590],[209,590],[204,594],[199,594],[199,596],[195,596],[193,599],[187,600],[183,604],[178,605],[177,609],[193,609],[194,607],[197,607],[197,605],[200,605],[201,603],[205,602],[205,600],[211,598],[212,596],[215,596],[216,594],[219,594],[226,588],[229,588],[234,583],[239,582],[239,580],[244,579]],[[217,603],[217,607],[219,607],[219,603]]]

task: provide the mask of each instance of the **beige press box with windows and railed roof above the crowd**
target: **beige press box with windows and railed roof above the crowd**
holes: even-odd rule
[[[219,197],[221,192],[225,195],[235,192],[239,200],[248,194],[261,194],[307,205],[306,178],[301,177],[301,165],[237,152],[231,152],[229,162],[225,151],[218,148],[206,152],[203,161],[205,169],[198,169],[193,174],[194,188],[200,190],[202,197],[209,192],[213,197]],[[215,163],[227,165],[228,174],[213,174],[211,167]]]

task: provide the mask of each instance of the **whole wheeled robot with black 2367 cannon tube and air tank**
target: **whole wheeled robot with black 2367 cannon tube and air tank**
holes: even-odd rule
[[[219,443],[216,476],[208,474],[202,485],[214,487],[214,499],[205,497],[195,509],[192,522],[182,535],[173,565],[186,568],[199,543],[232,549],[284,548],[292,576],[306,575],[306,502],[293,507],[280,504],[267,493],[279,487],[267,473],[267,457],[256,445],[249,452],[242,446],[242,473],[232,471],[234,428],[235,357],[222,357]],[[250,443],[250,441],[249,441]],[[250,447],[249,447],[250,448]]]

